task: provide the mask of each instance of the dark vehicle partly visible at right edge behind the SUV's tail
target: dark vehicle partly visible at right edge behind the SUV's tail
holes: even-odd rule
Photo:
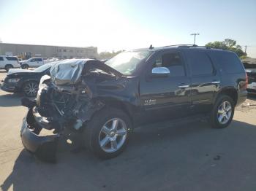
[[[256,59],[247,58],[247,60],[250,61],[250,62],[249,61],[244,62],[244,68],[248,76],[247,91],[248,93],[255,94],[256,93]]]

